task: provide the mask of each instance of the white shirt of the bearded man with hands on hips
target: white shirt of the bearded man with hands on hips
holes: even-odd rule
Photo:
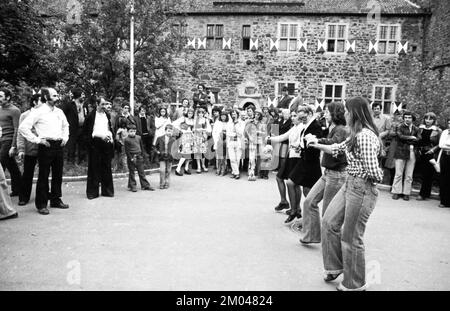
[[[31,131],[32,128],[35,129],[37,136]],[[42,138],[62,139],[66,143],[69,140],[69,123],[61,109],[43,104],[31,111],[22,121],[19,125],[19,133],[35,144],[38,144]]]

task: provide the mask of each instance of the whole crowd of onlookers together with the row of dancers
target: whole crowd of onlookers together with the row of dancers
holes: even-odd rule
[[[68,162],[75,162],[77,151],[78,161],[87,158],[90,200],[114,196],[114,158],[128,169],[132,192],[137,191],[136,171],[141,189],[155,190],[145,176],[146,159],[159,162],[162,190],[170,187],[174,164],[177,176],[214,169],[232,179],[246,173],[252,182],[276,171],[280,202],[275,210],[286,210],[285,223],[302,219],[302,244],[322,244],[325,281],[343,273],[339,290],[364,290],[363,235],[383,171],[390,173],[393,199],[409,200],[417,161],[422,170],[417,199],[430,197],[439,174],[439,206],[450,207],[450,119],[445,130],[431,112],[420,126],[406,110],[396,111],[391,120],[380,104],[370,105],[362,97],[329,103],[318,113],[287,91],[276,108],[249,104],[240,109],[213,104],[199,84],[192,101],[184,98],[175,111],[161,106],[152,116],[141,106],[133,116],[124,105],[113,118],[110,102],[99,97],[96,105],[86,107],[79,89],[72,90],[71,102],[59,105],[56,90],[42,88],[22,114],[12,94],[1,89],[0,219],[17,217],[12,196],[19,196],[19,205],[28,204],[36,163],[38,212],[48,215],[49,201],[53,208],[69,207],[61,192],[64,149]],[[23,160],[23,173],[16,155]],[[11,176],[10,194],[5,169]]]

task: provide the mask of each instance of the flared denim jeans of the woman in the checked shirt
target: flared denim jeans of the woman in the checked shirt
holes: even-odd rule
[[[348,289],[366,287],[363,236],[377,199],[378,190],[374,184],[348,176],[322,221],[325,273],[344,272],[342,285]]]

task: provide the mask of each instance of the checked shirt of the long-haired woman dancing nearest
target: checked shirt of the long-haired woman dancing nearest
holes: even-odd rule
[[[349,175],[361,177],[374,183],[383,180],[383,171],[378,165],[380,148],[380,140],[377,135],[366,128],[356,135],[356,146],[352,152],[347,148],[347,141],[331,145],[334,157],[337,157],[340,153],[346,154]]]

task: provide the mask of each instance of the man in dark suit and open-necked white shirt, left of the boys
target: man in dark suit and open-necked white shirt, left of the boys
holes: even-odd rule
[[[100,184],[102,196],[114,196],[111,170],[114,140],[111,117],[106,111],[108,105],[104,98],[97,100],[97,110],[92,111],[84,122],[83,134],[89,146],[86,184],[86,195],[89,200],[98,198]]]

